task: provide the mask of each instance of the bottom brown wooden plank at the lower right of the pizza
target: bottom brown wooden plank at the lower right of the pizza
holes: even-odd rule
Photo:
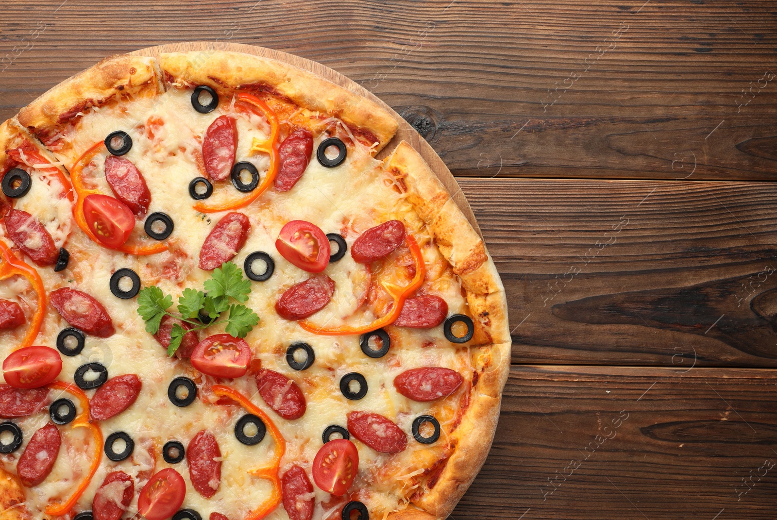
[[[771,519],[775,439],[771,370],[514,366],[451,518]]]

